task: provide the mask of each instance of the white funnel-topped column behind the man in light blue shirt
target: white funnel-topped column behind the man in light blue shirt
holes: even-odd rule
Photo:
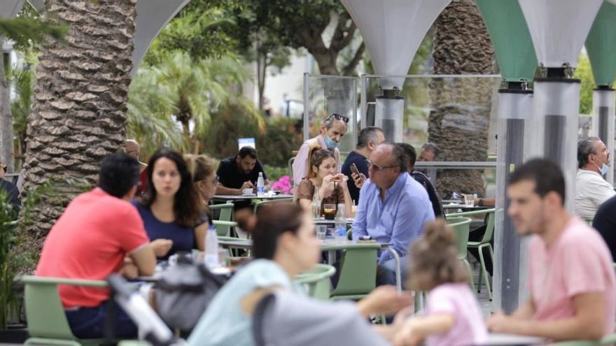
[[[363,36],[374,71],[384,76],[378,81],[383,94],[377,96],[374,124],[383,128],[386,140],[402,142],[403,76],[408,73],[423,36],[451,0],[340,1]]]

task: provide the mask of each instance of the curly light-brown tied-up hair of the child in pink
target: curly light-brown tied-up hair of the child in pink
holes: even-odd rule
[[[442,218],[426,225],[424,235],[411,247],[411,268],[407,284],[430,291],[440,284],[468,282],[469,273],[458,259],[454,233]]]

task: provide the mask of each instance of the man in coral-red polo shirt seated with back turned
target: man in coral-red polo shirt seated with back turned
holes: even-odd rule
[[[171,243],[150,243],[139,212],[130,204],[139,182],[139,162],[127,154],[106,157],[98,187],[73,199],[52,227],[36,267],[36,275],[105,280],[111,273],[134,278],[152,275],[156,254]],[[78,338],[102,338],[109,290],[59,286],[71,330]],[[137,327],[118,308],[116,336],[137,336]]]

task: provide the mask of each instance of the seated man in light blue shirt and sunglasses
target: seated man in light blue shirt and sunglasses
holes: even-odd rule
[[[405,154],[393,143],[384,143],[370,154],[370,179],[360,190],[360,202],[353,222],[353,240],[371,236],[390,244],[407,266],[409,245],[426,222],[434,219],[426,189],[407,174]],[[402,270],[402,273],[406,273]],[[395,263],[389,252],[379,257],[377,284],[395,284]]]

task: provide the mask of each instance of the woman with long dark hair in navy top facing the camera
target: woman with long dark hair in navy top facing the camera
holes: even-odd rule
[[[162,148],[148,163],[148,190],[141,202],[133,201],[151,240],[169,240],[168,259],[178,251],[204,250],[209,222],[179,152]]]

